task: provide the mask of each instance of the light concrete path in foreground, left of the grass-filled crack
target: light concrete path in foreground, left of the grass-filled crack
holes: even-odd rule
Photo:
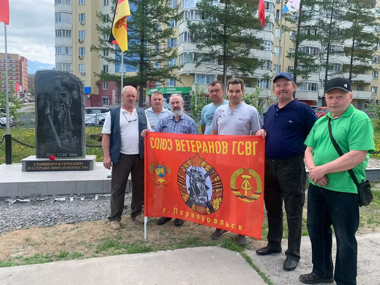
[[[1,285],[266,285],[238,253],[197,247],[0,268]]]

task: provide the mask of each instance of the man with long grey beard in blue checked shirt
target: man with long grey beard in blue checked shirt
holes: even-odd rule
[[[182,96],[180,94],[172,94],[170,96],[169,103],[173,115],[161,118],[154,126],[152,131],[158,133],[199,135],[198,126],[196,125],[195,121],[184,113],[185,101]],[[143,130],[141,132],[141,136],[145,137],[147,132],[148,130]],[[171,218],[161,217],[157,221],[157,225],[163,225],[170,220]],[[184,220],[181,219],[176,219],[174,222],[175,226],[182,226],[183,224]]]

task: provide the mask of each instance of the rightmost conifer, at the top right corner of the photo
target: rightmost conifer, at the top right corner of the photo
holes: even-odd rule
[[[372,7],[360,0],[348,2],[346,19],[351,26],[345,31],[352,41],[347,56],[350,58],[349,81],[359,74],[359,70],[374,70],[373,49],[379,43],[379,35],[373,33],[380,25]],[[355,65],[355,69],[353,66]]]

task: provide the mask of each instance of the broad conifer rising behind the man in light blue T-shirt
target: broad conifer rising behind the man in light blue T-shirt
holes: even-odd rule
[[[257,9],[244,0],[199,0],[196,8],[195,17],[202,21],[187,22],[191,41],[202,51],[194,59],[196,67],[212,63],[205,66],[205,73],[222,72],[223,83],[227,73],[252,76],[263,65],[253,57],[253,49],[263,49],[263,40],[256,37],[262,30],[254,17]]]

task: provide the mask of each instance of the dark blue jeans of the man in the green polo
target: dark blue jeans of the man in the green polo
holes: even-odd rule
[[[331,191],[310,183],[307,195],[307,230],[312,245],[313,272],[332,279],[332,231],[337,250],[334,279],[337,285],[356,285],[359,227],[358,195]]]

